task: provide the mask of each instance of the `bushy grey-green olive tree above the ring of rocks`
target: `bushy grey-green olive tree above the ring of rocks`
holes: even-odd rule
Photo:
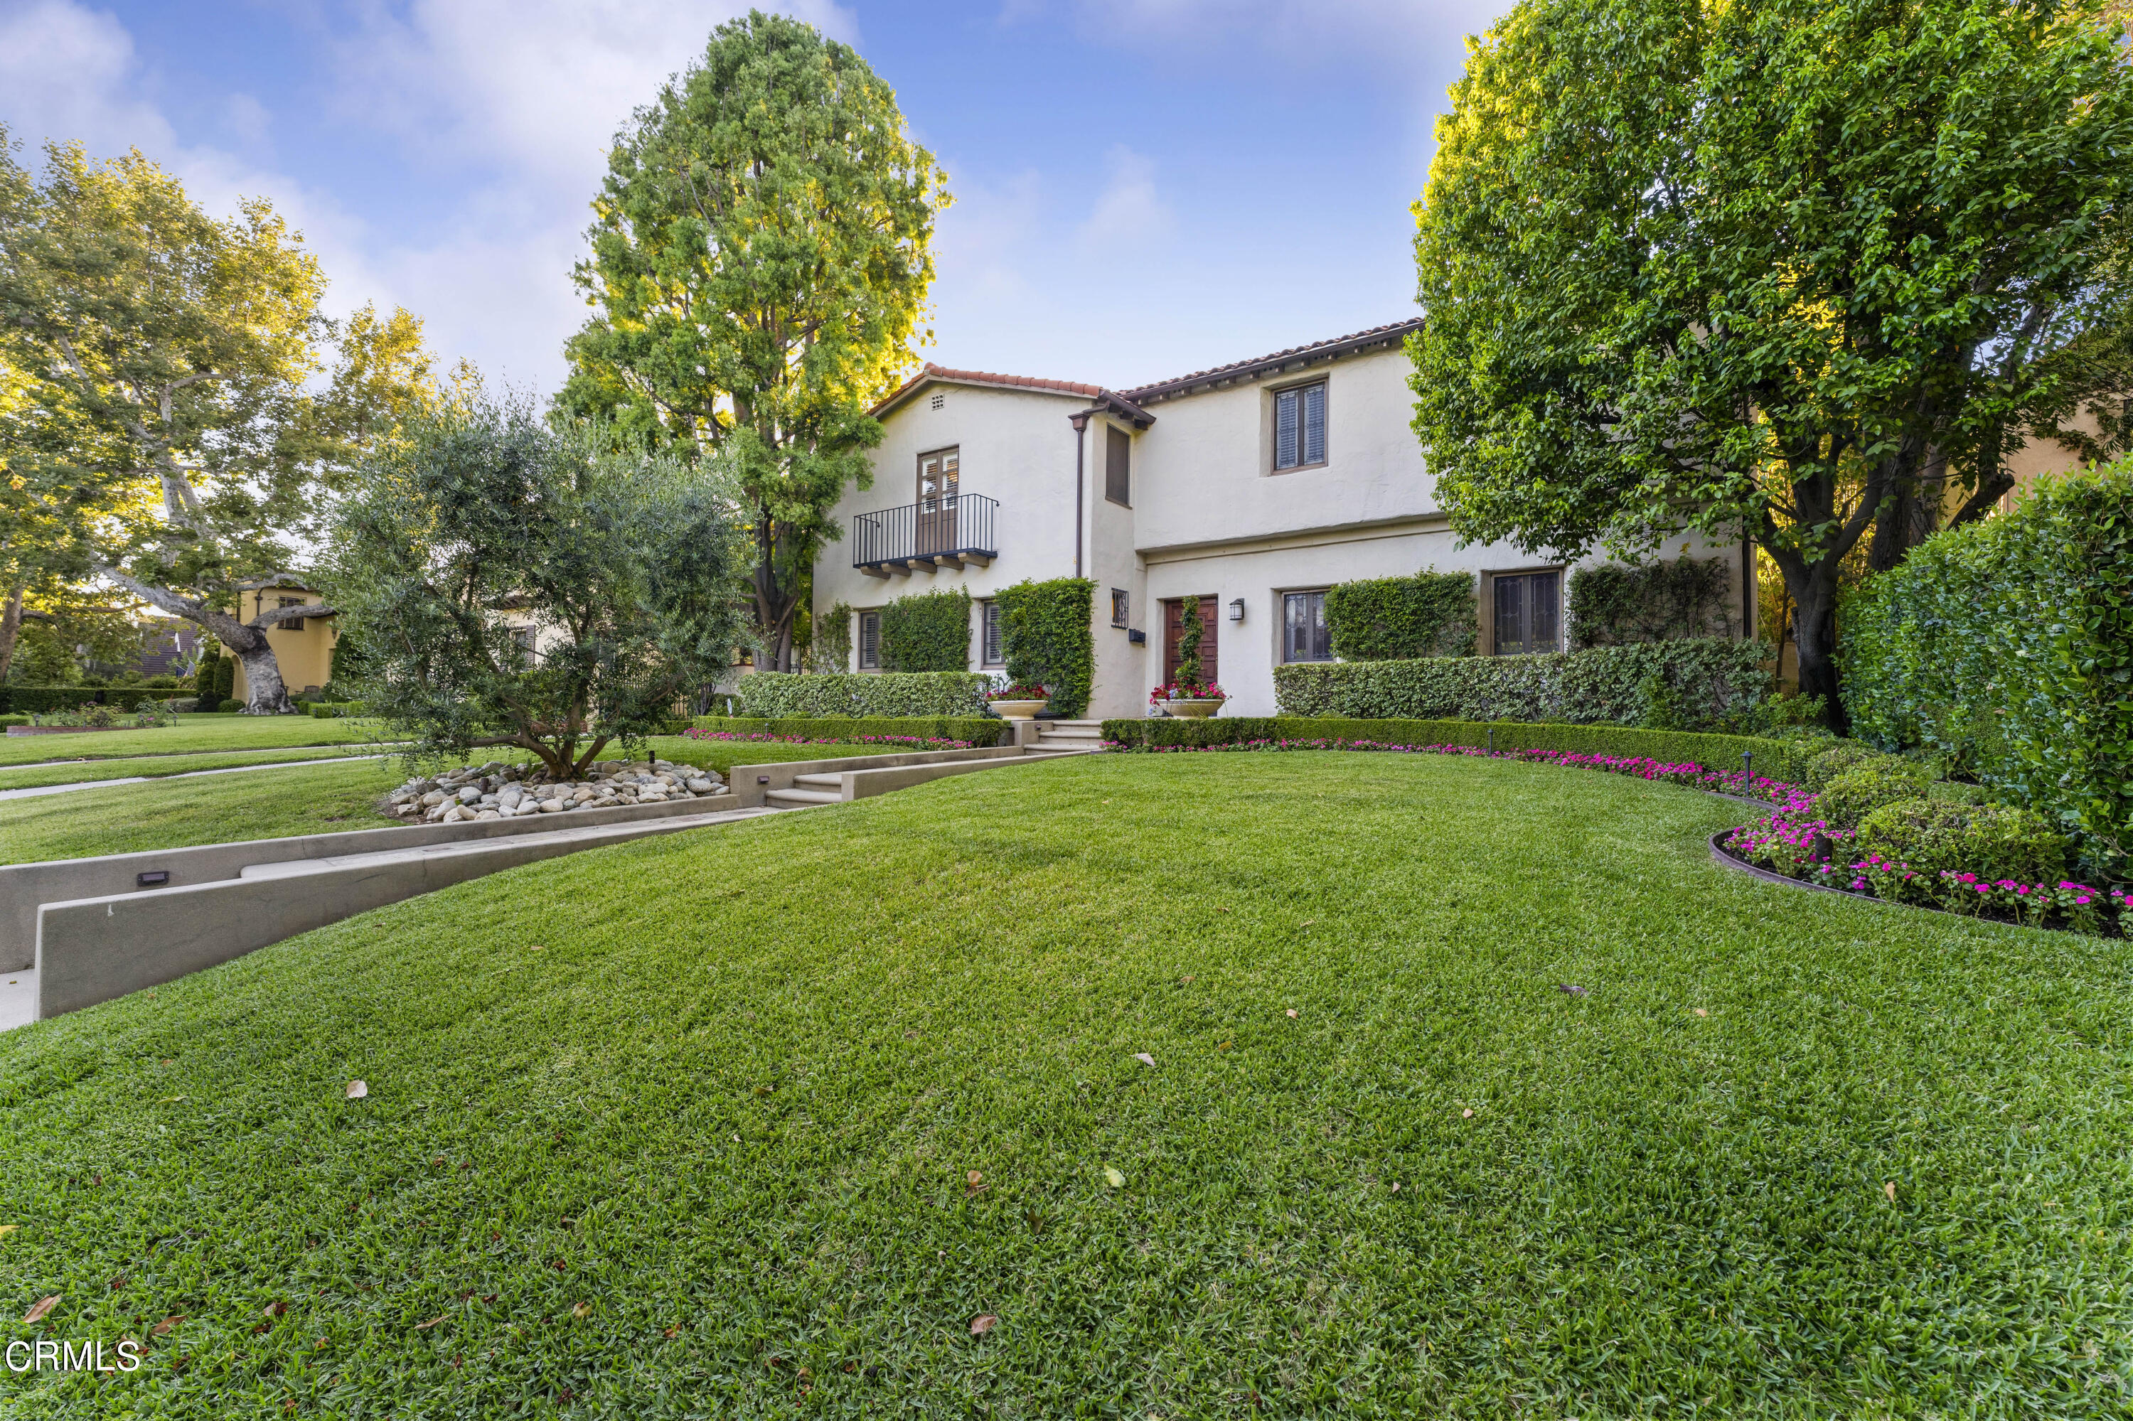
[[[574,779],[732,657],[732,480],[469,390],[401,422],[339,497],[324,576],[369,708],[414,755],[510,745]]]

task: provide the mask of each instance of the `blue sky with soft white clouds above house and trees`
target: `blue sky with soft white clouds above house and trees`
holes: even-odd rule
[[[606,143],[742,6],[0,0],[0,122],[267,196],[333,280],[535,390]],[[1408,316],[1408,203],[1497,0],[781,6],[860,49],[949,173],[934,344],[1128,386]]]

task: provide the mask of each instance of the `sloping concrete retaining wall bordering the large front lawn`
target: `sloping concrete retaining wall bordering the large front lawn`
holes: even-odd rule
[[[499,868],[651,834],[755,819],[761,811],[697,809],[695,815],[665,815],[651,821],[640,815],[636,824],[606,826],[584,824],[591,817],[593,811],[582,811],[572,815],[574,824],[559,824],[557,815],[542,815],[546,832],[540,836],[360,853],[358,862],[341,868],[326,864],[160,892],[45,903],[36,926],[36,1016],[43,1020],[94,1007],[241,958],[299,932]],[[380,832],[333,834],[333,839],[363,839],[365,847],[378,847],[375,841],[382,836]]]

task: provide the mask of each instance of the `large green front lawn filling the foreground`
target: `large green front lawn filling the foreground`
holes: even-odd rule
[[[1738,813],[1081,757],[518,868],[0,1035],[0,1306],[181,1319],[134,1376],[0,1398],[2127,1415],[2124,943],[1758,883],[1706,856]]]

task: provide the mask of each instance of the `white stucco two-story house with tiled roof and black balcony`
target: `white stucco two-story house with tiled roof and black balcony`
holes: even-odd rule
[[[1555,651],[1572,563],[1459,546],[1408,427],[1414,324],[1126,390],[926,365],[875,408],[875,482],[838,504],[845,538],[815,565],[815,614],[855,608],[853,670],[877,670],[875,612],[960,585],[971,666],[998,670],[1003,587],[1092,578],[1092,719],[1148,713],[1188,595],[1231,715],[1273,715],[1282,661],[1331,659],[1325,589],[1354,578],[1472,570],[1485,655]],[[1687,550],[1728,559],[1753,627],[1741,546]]]

